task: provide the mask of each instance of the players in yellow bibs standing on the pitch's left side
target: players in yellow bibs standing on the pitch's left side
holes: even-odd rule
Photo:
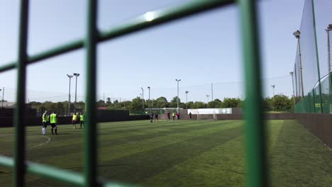
[[[72,115],[73,129],[76,128],[78,117],[79,117],[79,122],[80,122],[80,128],[82,129],[82,125],[84,127],[84,114],[83,113],[74,113]],[[50,123],[52,135],[58,135],[57,134],[57,112],[53,111],[50,115],[48,115],[48,111],[45,111],[45,113],[43,113],[42,118],[43,118],[42,135],[46,134],[46,128],[48,128],[48,123]]]

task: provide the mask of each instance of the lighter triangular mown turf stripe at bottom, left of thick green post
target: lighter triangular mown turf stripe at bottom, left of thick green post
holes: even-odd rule
[[[143,186],[244,186],[244,135],[143,181]]]

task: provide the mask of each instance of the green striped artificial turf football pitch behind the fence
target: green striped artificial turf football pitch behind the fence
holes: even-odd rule
[[[60,135],[28,127],[28,160],[82,171],[83,132],[58,125]],[[245,186],[242,120],[147,120],[100,123],[99,176],[143,186]],[[332,186],[332,151],[294,120],[267,122],[271,186]],[[50,141],[49,138],[50,138]],[[13,128],[0,128],[0,154],[13,156]],[[0,186],[12,170],[0,167]],[[26,186],[66,186],[28,174]]]

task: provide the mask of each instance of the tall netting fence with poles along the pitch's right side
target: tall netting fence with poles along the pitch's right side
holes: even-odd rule
[[[306,0],[294,63],[293,83],[297,96],[297,106],[295,107],[297,113],[332,113],[331,57],[329,55],[331,49],[328,47],[328,42],[331,43],[331,37],[328,39],[328,32],[331,31],[327,30],[329,24],[332,24],[332,1]],[[315,37],[318,52],[316,52]],[[300,69],[300,63],[302,69]],[[301,79],[303,79],[303,83]],[[319,84],[319,80],[321,84]],[[304,97],[301,93],[301,84],[303,84]]]

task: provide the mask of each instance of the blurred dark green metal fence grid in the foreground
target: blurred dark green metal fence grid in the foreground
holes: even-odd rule
[[[129,21],[126,24],[99,33],[96,29],[96,0],[88,0],[87,6],[87,35],[86,38],[75,40],[50,50],[45,50],[28,57],[26,53],[28,36],[28,0],[21,0],[20,26],[18,43],[18,60],[9,62],[0,67],[0,72],[18,69],[17,105],[15,114],[15,157],[0,156],[0,165],[14,168],[14,186],[24,186],[25,174],[37,174],[63,181],[75,186],[126,186],[121,183],[97,180],[97,135],[96,135],[96,45],[98,42],[119,38],[123,35],[151,28],[153,26],[175,21],[179,18],[191,16],[214,8],[236,2],[235,0],[196,0],[165,10],[153,11],[155,18],[147,20],[145,15]],[[262,115],[262,88],[260,73],[260,54],[258,45],[258,26],[255,0],[239,0],[241,13],[241,26],[243,35],[243,65],[245,66],[245,91],[246,91],[246,142],[248,178],[247,186],[268,186],[267,165],[265,157],[265,128]],[[86,128],[84,132],[84,174],[65,171],[52,166],[27,162],[25,159],[25,127],[24,109],[26,100],[26,66],[41,60],[55,57],[66,52],[71,52],[84,47],[87,50],[87,91],[86,91]]]

